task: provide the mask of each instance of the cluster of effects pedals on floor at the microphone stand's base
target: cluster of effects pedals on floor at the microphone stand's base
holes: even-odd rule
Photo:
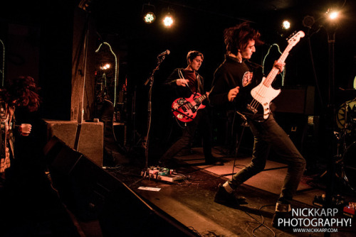
[[[174,182],[177,180],[184,180],[184,175],[179,175],[174,170],[169,170],[164,167],[149,167],[147,170],[141,172],[141,176],[150,177],[155,180],[162,180],[166,182]]]

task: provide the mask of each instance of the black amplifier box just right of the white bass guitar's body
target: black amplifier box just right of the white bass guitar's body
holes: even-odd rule
[[[276,112],[314,114],[315,87],[282,87],[281,94],[273,100]]]

